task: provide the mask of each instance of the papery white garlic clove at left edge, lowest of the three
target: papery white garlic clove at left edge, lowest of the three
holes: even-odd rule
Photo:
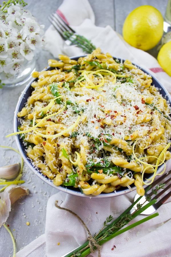
[[[8,192],[0,193],[0,228],[5,224],[11,211],[11,201]]]

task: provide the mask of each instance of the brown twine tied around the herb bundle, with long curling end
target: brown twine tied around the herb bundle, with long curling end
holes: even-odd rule
[[[84,228],[87,230],[87,233],[88,233],[88,238],[87,240],[89,241],[89,244],[88,246],[90,247],[90,251],[91,252],[95,252],[95,249],[94,247],[96,247],[98,249],[98,257],[100,257],[100,245],[97,243],[97,241],[95,240],[95,238],[93,238],[93,236],[91,235],[89,229],[87,228],[86,224],[84,223],[84,221],[75,213],[73,212],[72,210],[69,210],[67,208],[63,208],[63,207],[60,207],[58,205],[58,200],[55,201],[55,206],[56,208],[60,209],[60,210],[66,210],[67,212],[70,212],[71,214],[73,214],[74,216],[76,216],[78,218],[78,220],[81,221],[81,223],[83,224]],[[75,256],[75,255],[73,255]]]

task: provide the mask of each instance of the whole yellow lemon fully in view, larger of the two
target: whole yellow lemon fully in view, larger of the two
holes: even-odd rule
[[[160,41],[163,35],[163,17],[150,5],[134,9],[123,24],[123,38],[133,47],[147,51]]]

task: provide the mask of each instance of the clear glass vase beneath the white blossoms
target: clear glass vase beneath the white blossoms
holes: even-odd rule
[[[26,82],[31,79],[32,72],[35,71],[36,67],[36,57],[34,56],[31,61],[25,60],[22,64],[20,71],[15,74],[11,75],[10,73],[1,72],[0,79],[1,83],[4,83],[4,87],[17,87],[22,86]]]

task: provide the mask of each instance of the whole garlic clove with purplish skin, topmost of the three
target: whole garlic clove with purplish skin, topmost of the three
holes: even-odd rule
[[[0,178],[11,179],[15,178],[20,170],[20,164],[15,163],[12,165],[2,166],[0,167]]]

